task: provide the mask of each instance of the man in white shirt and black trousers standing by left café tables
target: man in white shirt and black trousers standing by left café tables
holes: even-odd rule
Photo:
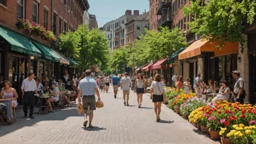
[[[28,115],[28,105],[30,105],[29,118],[33,117],[33,101],[35,99],[35,94],[37,93],[36,81],[33,79],[35,76],[33,73],[28,73],[28,78],[23,80],[21,85],[21,92],[23,93],[23,111],[25,117]]]

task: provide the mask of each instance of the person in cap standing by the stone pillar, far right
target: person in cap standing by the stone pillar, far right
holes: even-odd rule
[[[236,83],[233,86],[233,95],[235,96],[235,100],[241,104],[244,104],[244,79],[241,79],[239,71],[232,71],[233,78],[236,79]]]

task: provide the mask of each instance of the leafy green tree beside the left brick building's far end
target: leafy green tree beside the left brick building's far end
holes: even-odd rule
[[[105,34],[98,29],[89,31],[88,25],[79,25],[77,31],[61,34],[60,51],[77,60],[81,69],[92,65],[105,68],[109,58]]]

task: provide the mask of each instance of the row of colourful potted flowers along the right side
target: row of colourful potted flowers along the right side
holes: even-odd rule
[[[225,100],[209,103],[193,93],[183,94],[172,88],[167,88],[166,95],[169,95],[169,108],[179,111],[183,118],[188,118],[212,139],[221,137],[222,143],[256,144],[256,105],[239,105]]]

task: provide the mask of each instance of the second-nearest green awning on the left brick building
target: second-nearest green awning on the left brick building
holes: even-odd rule
[[[45,46],[44,44],[40,44],[36,41],[33,41],[33,44],[36,45],[41,51],[44,53],[44,58],[47,60],[51,60],[52,62],[60,63],[60,57],[51,49],[50,47]]]

